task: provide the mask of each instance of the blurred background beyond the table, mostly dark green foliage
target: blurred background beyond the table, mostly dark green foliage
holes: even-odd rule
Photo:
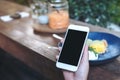
[[[28,0],[8,1],[28,6]],[[71,19],[120,31],[120,0],[68,0],[68,2]]]

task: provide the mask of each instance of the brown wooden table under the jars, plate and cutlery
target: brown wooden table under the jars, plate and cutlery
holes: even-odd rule
[[[13,14],[16,11],[30,9],[15,3],[0,1],[0,16]],[[120,32],[110,31],[99,26],[71,20],[71,23],[90,27],[91,31],[102,31],[120,37]],[[55,67],[55,55],[58,50],[48,49],[57,46],[58,40],[50,33],[36,33],[34,22],[28,18],[10,22],[0,21],[0,48],[24,62],[29,67],[43,74],[49,80],[64,80],[62,72]],[[59,34],[61,36],[64,33]],[[120,57],[113,62],[99,66],[90,66],[88,80],[120,80]]]

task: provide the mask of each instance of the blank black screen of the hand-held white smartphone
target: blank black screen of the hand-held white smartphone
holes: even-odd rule
[[[58,62],[77,66],[87,32],[68,30]]]

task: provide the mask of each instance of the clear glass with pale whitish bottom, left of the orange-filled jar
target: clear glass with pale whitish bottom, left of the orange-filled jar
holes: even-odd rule
[[[48,4],[45,0],[29,0],[31,15],[40,24],[48,23]]]

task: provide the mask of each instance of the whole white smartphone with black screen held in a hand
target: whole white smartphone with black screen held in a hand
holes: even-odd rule
[[[89,28],[70,25],[65,34],[65,40],[60,51],[56,66],[75,72],[80,64]]]

